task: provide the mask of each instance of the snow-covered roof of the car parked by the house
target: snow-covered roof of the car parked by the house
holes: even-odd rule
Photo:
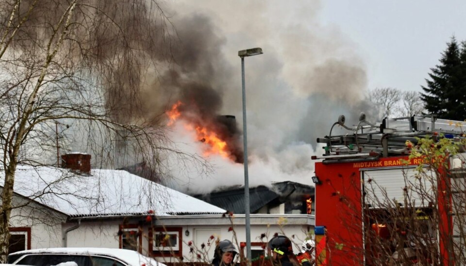
[[[141,266],[146,264],[147,266],[165,266],[163,263],[159,263],[156,260],[146,257],[136,251],[129,249],[110,249],[110,248],[49,248],[49,249],[28,249],[11,253],[10,255],[21,255],[21,254],[75,254],[75,255],[105,255],[119,259],[131,266]]]

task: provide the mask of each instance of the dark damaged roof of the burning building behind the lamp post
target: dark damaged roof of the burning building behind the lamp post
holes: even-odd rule
[[[252,187],[249,190],[250,212],[255,213],[272,201],[281,203],[293,197],[310,198],[314,196],[314,191],[314,186],[291,181],[272,183],[271,187],[264,185]],[[224,188],[222,191],[194,195],[194,197],[235,214],[244,214],[245,212],[244,187]]]

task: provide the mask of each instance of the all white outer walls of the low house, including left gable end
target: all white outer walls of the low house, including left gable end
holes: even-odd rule
[[[23,203],[22,199],[17,200],[17,204]],[[154,227],[171,227],[180,230],[182,241],[182,256],[185,261],[210,261],[214,254],[216,239],[232,240],[236,248],[240,249],[240,243],[246,242],[245,218],[244,215],[235,215],[232,219],[221,215],[191,215],[191,216],[163,216],[154,219],[151,223],[145,222],[145,217],[129,219],[128,223],[143,224],[141,236],[141,250],[145,255],[150,254],[149,234],[151,225]],[[311,215],[266,215],[253,214],[250,219],[251,242],[261,242],[261,234],[265,234],[263,239],[273,237],[275,233],[285,234],[292,238],[296,245],[300,245],[306,237],[306,232],[314,231],[314,216]],[[26,206],[21,209],[13,209],[12,227],[31,228],[31,248],[54,248],[64,247],[63,238],[67,229],[78,225],[78,220],[66,221],[66,216],[54,212],[45,206],[36,204]],[[82,219],[79,227],[67,233],[67,247],[120,247],[118,231],[122,225],[122,218],[86,220]],[[233,230],[230,230],[232,228]],[[187,232],[188,235],[185,235]],[[236,238],[235,238],[235,236]],[[214,239],[210,239],[214,236]],[[294,236],[294,238],[293,238]],[[188,243],[192,241],[192,246]],[[212,245],[208,245],[208,243]],[[202,250],[201,244],[206,248]],[[195,248],[190,252],[190,248]],[[196,250],[196,248],[198,250]],[[262,249],[260,246],[253,246],[252,249]],[[295,253],[299,249],[294,249]],[[202,258],[199,260],[197,255]],[[178,257],[157,257],[161,262],[175,262]]]

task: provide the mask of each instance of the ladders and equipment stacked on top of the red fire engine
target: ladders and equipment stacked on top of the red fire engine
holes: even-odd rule
[[[348,130],[345,135],[332,135],[335,125]],[[328,159],[326,163],[377,160],[379,157],[407,154],[406,141],[416,145],[416,137],[433,136],[443,133],[447,138],[460,137],[464,133],[466,122],[437,119],[435,116],[408,116],[398,118],[385,117],[376,125],[366,121],[361,113],[359,123],[348,127],[345,116],[341,115],[333,123],[330,134],[317,138],[317,143],[324,143],[325,153],[313,156],[313,159]],[[433,136],[435,137],[435,136]]]

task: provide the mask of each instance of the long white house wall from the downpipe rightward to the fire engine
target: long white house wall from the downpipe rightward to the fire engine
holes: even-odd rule
[[[131,220],[129,221],[131,223]],[[133,221],[133,223],[137,223]],[[77,224],[77,221],[64,225],[64,230]],[[118,220],[106,220],[103,222],[82,220],[78,229],[67,234],[67,247],[104,247],[119,248],[119,226]],[[214,254],[215,239],[229,239],[235,243],[239,250],[240,243],[246,242],[244,226],[244,215],[233,218],[233,224],[228,217],[219,215],[197,215],[197,216],[166,216],[152,222],[152,226],[171,227],[181,229],[181,240],[184,261],[206,261],[212,260]],[[230,227],[233,230],[229,230]],[[149,228],[150,224],[142,226],[142,253],[149,253]],[[186,231],[188,232],[187,236]],[[275,233],[285,234],[292,238],[296,245],[300,245],[306,237],[306,232],[314,232],[314,216],[310,215],[251,215],[251,242],[261,242],[261,234],[266,234],[264,242],[273,237]],[[236,240],[234,239],[236,234]],[[210,239],[214,236],[215,239]],[[294,238],[293,238],[294,236]],[[192,241],[192,245],[188,243]],[[208,245],[208,243],[213,245]],[[200,248],[205,245],[204,251]],[[195,252],[190,253],[190,248]],[[198,249],[198,250],[196,250]],[[253,247],[253,249],[262,249]],[[295,253],[299,252],[294,248]],[[197,254],[202,258],[199,260]],[[204,257],[205,256],[205,257]],[[160,262],[178,262],[177,257],[156,257]]]

